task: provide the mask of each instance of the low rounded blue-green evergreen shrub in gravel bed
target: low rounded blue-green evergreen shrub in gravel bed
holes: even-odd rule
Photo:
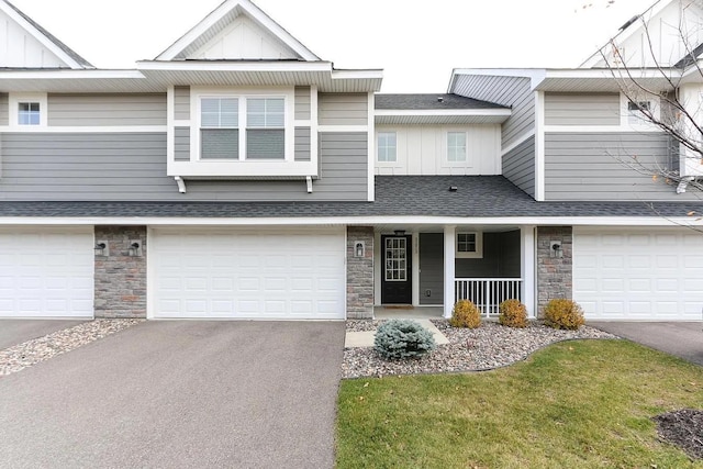
[[[410,320],[384,322],[373,338],[373,349],[387,360],[420,358],[436,346],[432,333]]]

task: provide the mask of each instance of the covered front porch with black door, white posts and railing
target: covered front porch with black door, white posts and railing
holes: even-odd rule
[[[484,317],[509,299],[535,316],[535,227],[382,225],[373,227],[378,317],[449,317],[468,299]]]

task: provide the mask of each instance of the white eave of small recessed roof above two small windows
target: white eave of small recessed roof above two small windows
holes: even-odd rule
[[[504,109],[377,109],[377,124],[502,124],[512,111]]]

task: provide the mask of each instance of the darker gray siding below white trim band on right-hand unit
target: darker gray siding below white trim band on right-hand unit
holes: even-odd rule
[[[547,133],[546,200],[690,200],[661,178],[638,172],[622,160],[637,157],[645,167],[673,167],[670,138],[660,133]]]

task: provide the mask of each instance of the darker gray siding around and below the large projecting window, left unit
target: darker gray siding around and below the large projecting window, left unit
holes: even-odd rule
[[[187,180],[166,176],[166,133],[5,133],[2,201],[367,200],[367,134],[321,135],[320,179]]]

